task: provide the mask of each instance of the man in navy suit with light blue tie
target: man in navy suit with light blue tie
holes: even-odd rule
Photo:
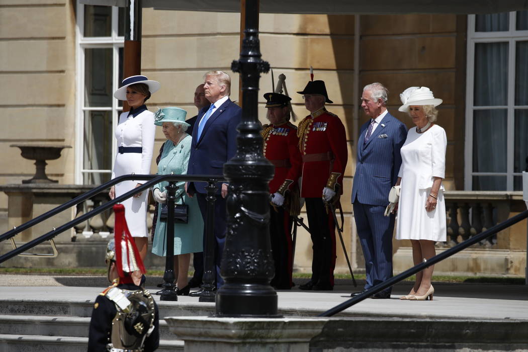
[[[191,156],[187,168],[188,175],[223,175],[224,163],[230,160],[237,149],[237,126],[242,120],[242,109],[229,99],[231,78],[223,71],[210,71],[205,74],[205,98],[210,105],[198,113],[193,128]],[[204,222],[206,221],[207,191],[205,182],[187,184],[187,194],[196,195]],[[221,184],[216,193],[214,207],[214,236],[216,287],[220,288],[220,262],[227,232],[225,196],[227,184]],[[205,240],[205,239],[204,239]]]

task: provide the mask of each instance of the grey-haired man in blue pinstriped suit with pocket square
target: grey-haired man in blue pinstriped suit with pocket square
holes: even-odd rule
[[[407,127],[386,108],[387,90],[381,83],[363,88],[361,107],[370,120],[360,129],[352,204],[357,235],[365,257],[364,290],[392,277],[392,233],[395,215],[383,215],[401,165],[400,149]],[[352,293],[352,296],[361,292]],[[372,298],[390,298],[391,288]]]

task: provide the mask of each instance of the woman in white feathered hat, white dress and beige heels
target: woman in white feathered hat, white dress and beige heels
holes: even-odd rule
[[[411,87],[400,94],[416,128],[408,131],[401,147],[402,164],[397,185],[401,184],[396,239],[410,240],[414,265],[436,255],[435,242],[446,241],[446,204],[442,179],[446,169],[446,131],[433,123],[442,100],[427,87]],[[431,299],[433,265],[416,274],[408,295],[400,299]]]

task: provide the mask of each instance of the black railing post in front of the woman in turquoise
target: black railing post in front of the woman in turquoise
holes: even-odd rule
[[[176,199],[176,182],[169,181],[167,189],[167,255],[165,257],[165,273],[163,274],[161,301],[177,301],[178,294],[174,290],[174,202]]]

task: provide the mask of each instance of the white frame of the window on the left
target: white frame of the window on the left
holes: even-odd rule
[[[86,111],[111,111],[112,131],[112,155],[116,154],[117,145],[114,137],[115,129],[122,111],[117,99],[112,97],[111,106],[108,107],[87,107],[84,101],[84,76],[85,76],[85,50],[86,49],[112,49],[112,87],[114,92],[119,88],[119,50],[124,47],[125,37],[118,35],[119,8],[112,6],[111,11],[111,36],[105,37],[84,37],[84,6],[77,0],[77,26],[76,26],[76,117],[75,117],[75,167],[74,179],[76,184],[84,184],[84,174],[102,173],[110,174],[114,168],[112,158],[111,169],[85,169],[84,168],[84,118]]]

